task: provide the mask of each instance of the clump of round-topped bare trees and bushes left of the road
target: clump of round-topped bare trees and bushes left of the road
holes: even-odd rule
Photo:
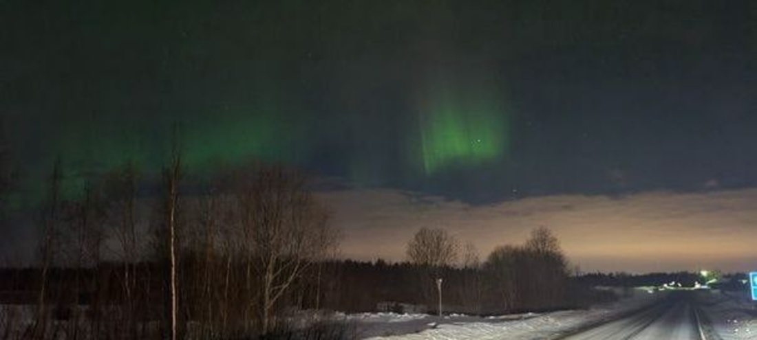
[[[422,228],[407,244],[407,257],[415,266],[413,300],[437,313],[548,311],[612,298],[572,280],[569,261],[546,227],[532,230],[522,245],[498,246],[484,261],[445,230]]]

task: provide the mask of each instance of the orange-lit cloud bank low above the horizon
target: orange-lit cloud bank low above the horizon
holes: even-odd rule
[[[623,196],[542,196],[489,206],[399,190],[322,193],[351,258],[399,261],[420,227],[443,227],[482,257],[550,227],[584,270],[748,270],[757,258],[757,189]]]

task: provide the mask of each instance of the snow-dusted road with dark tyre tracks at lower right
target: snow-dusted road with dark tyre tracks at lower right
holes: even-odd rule
[[[696,292],[677,291],[649,308],[618,320],[593,326],[563,337],[570,340],[598,339],[696,339],[700,335]],[[706,337],[705,337],[706,338]],[[706,338],[709,340],[709,338]]]

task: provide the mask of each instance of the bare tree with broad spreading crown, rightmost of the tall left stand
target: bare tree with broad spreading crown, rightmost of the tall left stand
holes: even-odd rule
[[[338,237],[328,223],[329,213],[307,190],[299,172],[267,165],[242,172],[236,199],[250,245],[248,261],[257,261],[257,310],[266,334],[275,321],[276,302],[307,267],[336,246]]]

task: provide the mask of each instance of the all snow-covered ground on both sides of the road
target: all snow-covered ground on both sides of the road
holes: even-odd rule
[[[541,314],[509,314],[495,317],[475,317],[452,314],[437,317],[428,314],[361,313],[326,314],[313,318],[303,314],[297,320],[346,321],[349,335],[360,339],[548,339],[565,335],[575,329],[613,320],[630,311],[652,304],[667,292],[644,289],[612,304],[601,304],[587,310],[556,311]],[[701,308],[703,321],[711,327],[705,329],[712,338],[724,340],[757,340],[757,302],[749,292],[719,292],[702,290],[696,301]],[[0,330],[11,326],[20,332],[24,320],[30,320],[30,306],[0,304]],[[304,312],[303,312],[304,313]],[[22,327],[23,328],[23,327]],[[2,332],[0,332],[2,334]],[[710,337],[708,337],[710,338]]]

